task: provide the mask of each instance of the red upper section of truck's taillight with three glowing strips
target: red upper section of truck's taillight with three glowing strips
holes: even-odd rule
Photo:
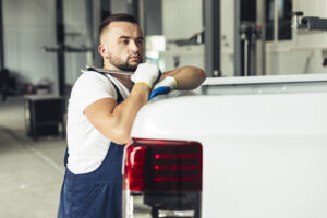
[[[202,145],[197,142],[140,140],[126,147],[124,189],[202,191]]]

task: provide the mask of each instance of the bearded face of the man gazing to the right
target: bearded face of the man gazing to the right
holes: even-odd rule
[[[101,36],[101,45],[107,49],[110,68],[135,71],[143,62],[144,38],[136,24],[112,22]]]

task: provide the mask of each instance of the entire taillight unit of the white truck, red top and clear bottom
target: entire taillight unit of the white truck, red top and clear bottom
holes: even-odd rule
[[[133,138],[123,187],[124,217],[199,217],[202,145]]]

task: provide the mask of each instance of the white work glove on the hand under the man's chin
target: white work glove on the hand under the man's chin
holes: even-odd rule
[[[161,72],[157,65],[150,63],[140,63],[135,73],[131,76],[132,82],[144,83],[150,89],[153,88],[153,84],[158,82],[161,76]]]

